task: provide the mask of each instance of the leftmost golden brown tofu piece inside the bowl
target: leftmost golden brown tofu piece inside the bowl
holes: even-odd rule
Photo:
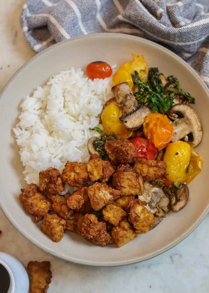
[[[52,210],[52,203],[46,195],[39,192],[35,184],[31,183],[21,191],[19,200],[23,203],[23,209],[35,216],[36,223]]]

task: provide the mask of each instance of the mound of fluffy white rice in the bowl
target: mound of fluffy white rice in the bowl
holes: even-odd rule
[[[88,139],[99,136],[89,128],[99,125],[102,106],[112,98],[111,80],[92,81],[80,68],[71,68],[23,100],[13,131],[28,184],[38,185],[41,170],[62,172],[66,161],[88,161]]]

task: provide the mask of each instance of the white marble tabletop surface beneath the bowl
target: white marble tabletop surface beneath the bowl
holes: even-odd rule
[[[14,72],[35,55],[19,25],[23,0],[0,7],[0,90]],[[209,292],[209,215],[184,241],[151,260],[118,268],[87,267],[53,257],[25,239],[0,210],[0,251],[23,265],[30,260],[51,262],[49,293]]]

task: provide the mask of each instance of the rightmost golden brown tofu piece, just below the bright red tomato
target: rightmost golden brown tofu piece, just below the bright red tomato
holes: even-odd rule
[[[138,174],[141,174],[144,181],[153,181],[166,174],[166,163],[163,161],[138,159],[134,168]]]

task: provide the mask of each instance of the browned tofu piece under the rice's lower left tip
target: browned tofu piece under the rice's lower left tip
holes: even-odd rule
[[[39,173],[39,189],[49,194],[60,194],[64,190],[64,184],[60,178],[59,170],[48,168]]]

